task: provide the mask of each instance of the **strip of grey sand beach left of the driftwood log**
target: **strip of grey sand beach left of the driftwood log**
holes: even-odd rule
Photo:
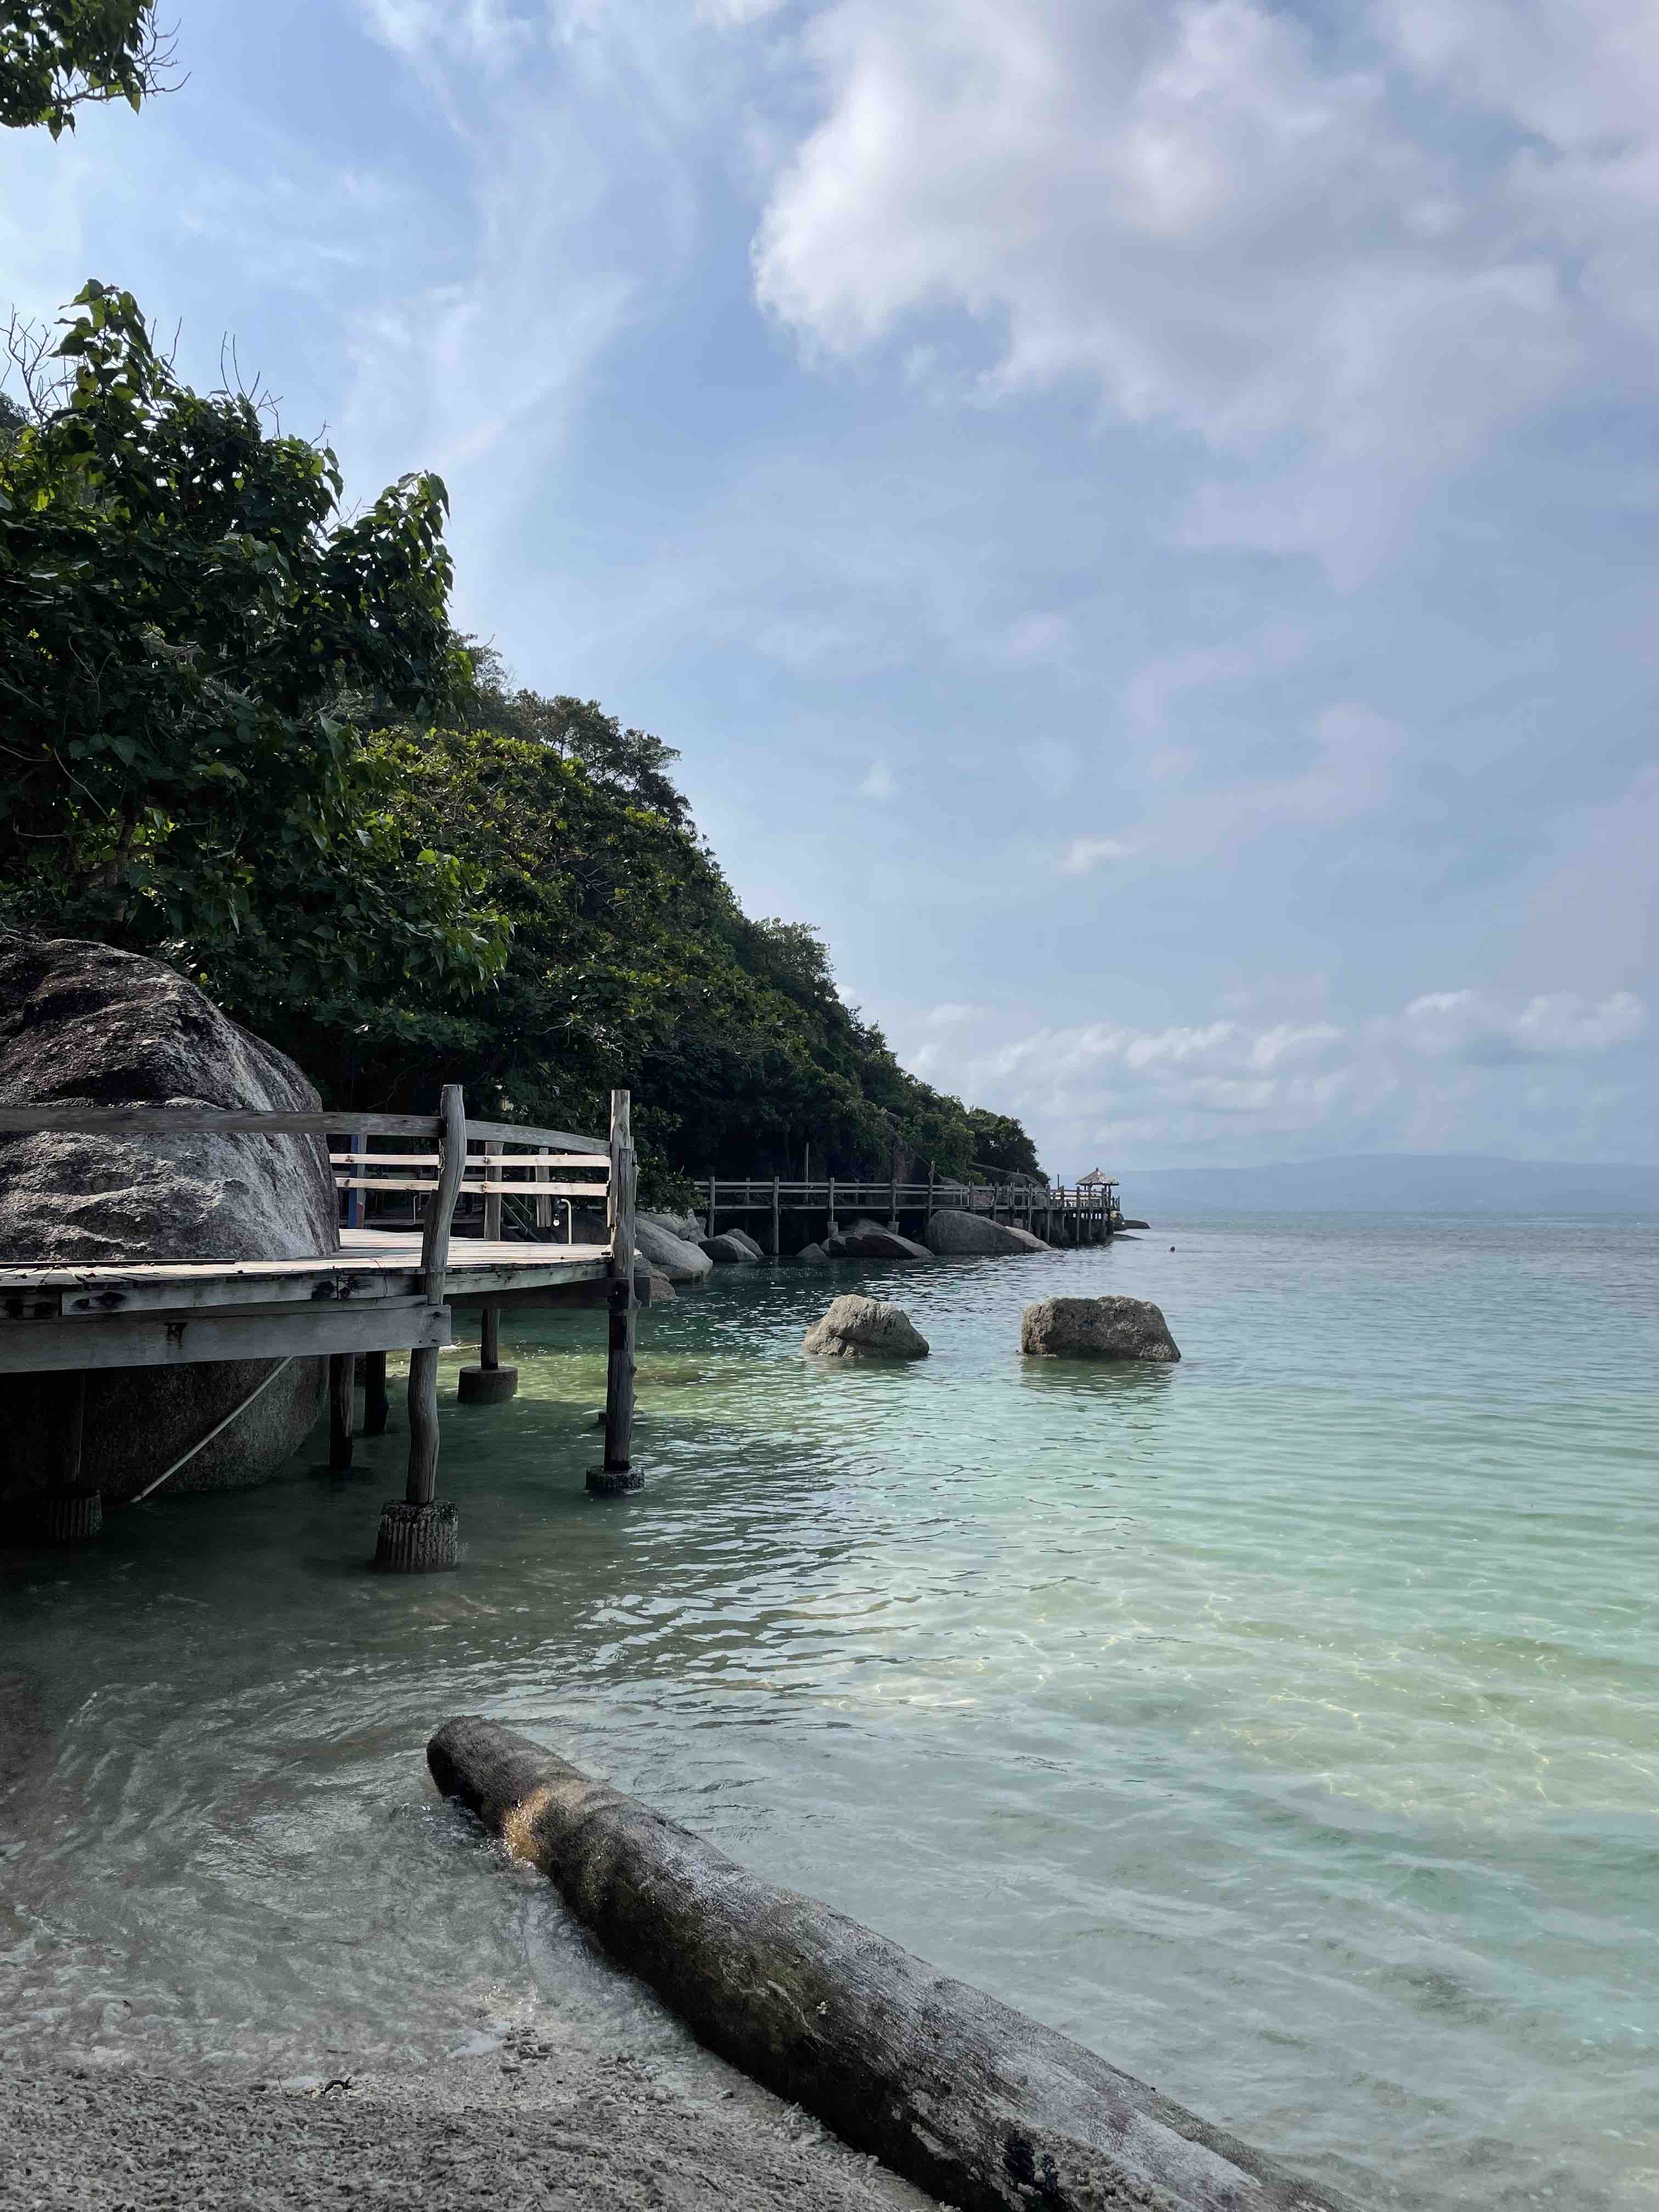
[[[664,2068],[562,2024],[349,2086],[20,2057],[0,2073],[4,2212],[480,2203],[606,2212],[938,2212],[799,2106],[699,2053]],[[327,2090],[327,2093],[325,2093]]]

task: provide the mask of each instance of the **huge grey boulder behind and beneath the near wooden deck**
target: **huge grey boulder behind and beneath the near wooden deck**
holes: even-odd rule
[[[0,1106],[246,1106],[316,1113],[274,1046],[173,969],[77,938],[0,936]],[[49,1265],[310,1259],[338,1250],[321,1137],[0,1137],[0,1261]],[[86,1383],[82,1480],[113,1498],[153,1482],[270,1360],[104,1369]],[[327,1360],[294,1360],[170,1489],[259,1482],[325,1400]],[[0,1378],[0,1491],[44,1486],[40,1376]]]

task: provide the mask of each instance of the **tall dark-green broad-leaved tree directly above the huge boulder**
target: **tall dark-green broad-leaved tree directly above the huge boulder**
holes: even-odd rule
[[[181,385],[128,292],[75,310],[0,436],[0,909],[166,951],[250,1020],[476,984],[502,927],[407,849],[365,741],[467,681],[442,484],[343,520],[334,456]]]

